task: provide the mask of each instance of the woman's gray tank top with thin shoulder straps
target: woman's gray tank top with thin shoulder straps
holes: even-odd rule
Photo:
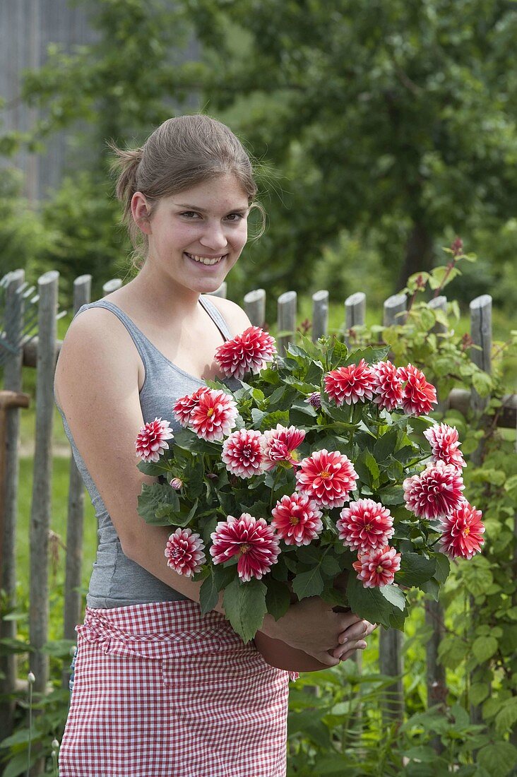
[[[215,322],[224,339],[228,340],[230,336],[228,326],[213,302],[203,295],[200,296],[199,301]],[[173,415],[173,402],[180,396],[194,392],[201,385],[204,385],[204,381],[194,377],[194,375],[189,375],[166,359],[145,334],[134,325],[128,315],[121,311],[121,308],[117,308],[113,302],[103,299],[90,302],[89,305],[82,305],[82,308],[79,308],[75,315],[79,315],[88,308],[107,308],[121,320],[131,335],[145,368],[144,385],[142,385],[140,392],[140,406],[144,422],[148,423],[148,421],[158,417],[168,420],[173,432],[180,430],[180,424]],[[237,388],[240,385],[233,378],[226,378],[225,382],[232,388]],[[58,406],[58,402],[56,405]],[[65,415],[59,406],[58,410],[63,419],[65,434],[72,446],[75,463],[92,500],[98,521],[97,556],[96,562],[93,564],[86,605],[92,608],[112,608],[147,604],[152,601],[186,599],[187,597],[183,594],[162,583],[142,566],[128,559],[128,556],[124,556],[117,531],[115,531],[100,493],[75,445]],[[135,430],[135,439],[137,432],[138,430]],[[136,467],[136,465],[135,458],[134,466]],[[159,549],[157,552],[159,553]],[[163,556],[163,560],[166,563],[165,556]]]

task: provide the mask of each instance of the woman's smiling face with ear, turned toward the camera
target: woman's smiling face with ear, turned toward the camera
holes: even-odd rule
[[[135,221],[148,235],[148,270],[156,280],[201,294],[215,291],[246,245],[248,197],[235,176],[225,174],[162,197],[148,221],[145,197],[131,203]]]

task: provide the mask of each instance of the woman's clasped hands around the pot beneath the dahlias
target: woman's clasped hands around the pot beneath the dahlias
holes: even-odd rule
[[[334,667],[339,664],[340,655],[351,654],[365,646],[368,628],[353,612],[334,612],[332,605],[313,596],[295,602],[278,621],[266,615],[261,631]],[[345,641],[340,642],[340,638]]]

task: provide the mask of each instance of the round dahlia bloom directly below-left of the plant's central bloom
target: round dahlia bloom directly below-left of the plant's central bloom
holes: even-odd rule
[[[271,526],[286,545],[309,545],[323,531],[320,508],[302,493],[282,497],[271,514]]]

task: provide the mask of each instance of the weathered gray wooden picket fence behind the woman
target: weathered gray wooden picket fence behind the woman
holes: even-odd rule
[[[16,342],[23,330],[24,302],[26,282],[23,270],[16,270],[2,281],[5,288],[5,331],[0,332],[3,342]],[[37,370],[36,385],[36,434],[33,470],[33,492],[30,510],[30,643],[34,651],[30,653],[30,670],[35,675],[35,692],[46,692],[48,681],[48,656],[42,648],[47,642],[49,617],[48,559],[49,534],[51,528],[51,477],[52,477],[52,425],[54,419],[54,369],[61,341],[57,337],[57,320],[65,312],[58,313],[57,271],[42,275],[37,283],[38,315],[37,337],[23,344],[19,350],[9,351],[4,364],[4,385],[0,391],[0,585],[9,601],[14,601],[16,588],[16,524],[17,496],[19,490],[19,418],[20,409],[27,407],[29,396],[23,394],[22,367],[29,366]],[[90,301],[91,281],[89,275],[78,277],[74,283],[73,311]],[[122,284],[121,280],[110,280],[103,287],[103,294],[109,294]],[[225,284],[215,294],[225,296]],[[33,300],[34,301],[34,300]],[[327,333],[329,292],[316,291],[312,297],[312,336],[313,340]],[[265,319],[266,294],[256,289],[246,294],[243,307],[255,326],[263,326]],[[366,297],[363,292],[352,294],[344,301],[345,339],[348,340],[351,329],[365,322]],[[383,325],[389,326],[403,320],[407,298],[396,294],[386,299],[383,305]],[[445,297],[432,300],[429,305],[445,309]],[[295,333],[297,296],[295,291],[287,291],[278,298],[278,332]],[[474,299],[470,303],[470,336],[474,345],[472,359],[487,372],[491,371],[491,297],[488,294]],[[439,325],[438,325],[439,326]],[[292,336],[292,335],[291,335]],[[289,341],[289,335],[278,338],[281,350]],[[2,340],[0,339],[0,349]],[[5,349],[4,349],[5,350]],[[442,402],[442,409],[453,407],[463,412],[472,406],[483,409],[486,400],[473,392],[453,390]],[[515,427],[515,396],[505,398],[503,412],[499,415],[500,426]],[[65,560],[65,600],[64,628],[65,639],[75,639],[75,625],[82,618],[82,600],[80,594],[82,570],[82,534],[84,514],[84,486],[81,476],[70,459],[70,479],[68,492],[68,524],[66,535]],[[26,542],[27,538],[19,538]],[[24,570],[25,573],[25,570]],[[427,686],[429,705],[445,702],[445,671],[438,664],[438,646],[444,629],[444,614],[441,605],[434,601],[425,603],[426,623],[431,627],[432,636],[426,645]],[[0,636],[16,638],[16,621],[0,623]],[[388,720],[402,720],[403,716],[403,635],[395,630],[380,632],[379,669],[382,674],[393,677],[393,687],[386,696],[386,715]],[[17,676],[16,656],[0,658],[0,694],[12,694],[21,681]],[[64,678],[66,681],[66,678]],[[4,697],[5,698],[5,697]],[[13,706],[8,702],[0,703],[0,731],[7,736],[12,728]],[[2,738],[2,737],[0,737]]]

